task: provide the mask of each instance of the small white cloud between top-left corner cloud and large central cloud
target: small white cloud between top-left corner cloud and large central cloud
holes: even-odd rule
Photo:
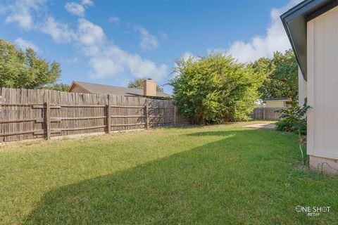
[[[44,24],[39,25],[39,30],[44,34],[49,34],[56,43],[68,43],[75,39],[75,33],[68,25],[59,23],[51,16],[46,18]]]

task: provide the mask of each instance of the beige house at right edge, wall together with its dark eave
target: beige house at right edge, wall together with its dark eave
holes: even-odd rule
[[[338,1],[306,0],[281,18],[299,62],[299,101],[308,98],[313,169],[338,172]]]

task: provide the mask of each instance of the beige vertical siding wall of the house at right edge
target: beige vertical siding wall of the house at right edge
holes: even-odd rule
[[[308,155],[338,159],[338,8],[308,22]],[[323,161],[318,160],[323,158]],[[315,160],[313,160],[315,159]]]

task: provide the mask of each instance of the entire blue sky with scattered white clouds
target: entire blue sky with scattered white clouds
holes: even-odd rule
[[[246,63],[288,49],[279,15],[298,2],[0,0],[0,38],[61,63],[66,84],[165,84],[180,57],[224,53]]]

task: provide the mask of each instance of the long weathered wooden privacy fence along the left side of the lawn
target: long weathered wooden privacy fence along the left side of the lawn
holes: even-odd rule
[[[173,100],[62,91],[0,93],[0,141],[188,124]]]

